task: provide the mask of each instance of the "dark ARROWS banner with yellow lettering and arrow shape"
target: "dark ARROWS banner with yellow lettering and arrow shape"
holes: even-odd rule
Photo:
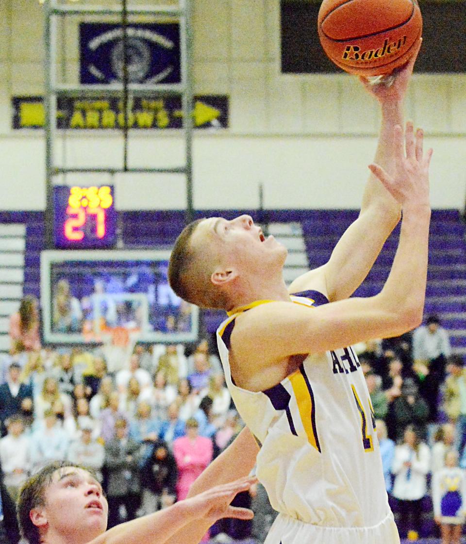
[[[41,96],[14,96],[12,127],[42,128],[45,110]],[[199,95],[193,100],[194,128],[228,128],[229,98],[226,95]],[[182,128],[181,97],[133,97],[126,116],[129,128]],[[57,128],[76,130],[121,129],[125,115],[121,98],[100,100],[58,97]]]

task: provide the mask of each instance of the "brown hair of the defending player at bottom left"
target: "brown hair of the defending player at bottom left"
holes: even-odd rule
[[[45,505],[45,491],[52,483],[53,474],[60,468],[82,468],[93,476],[88,468],[84,468],[69,461],[53,461],[41,468],[39,472],[24,482],[20,490],[20,496],[16,506],[17,519],[21,536],[29,541],[29,544],[40,544],[39,528],[30,520],[29,513],[33,508]]]

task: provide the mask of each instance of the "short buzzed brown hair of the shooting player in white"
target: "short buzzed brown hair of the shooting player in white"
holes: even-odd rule
[[[199,262],[198,252],[191,246],[191,238],[199,223],[192,221],[181,231],[171,251],[168,264],[168,282],[174,292],[186,302],[201,308],[226,307],[225,298],[210,281],[211,270]]]

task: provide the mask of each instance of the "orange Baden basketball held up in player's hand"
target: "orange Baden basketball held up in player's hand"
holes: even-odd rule
[[[422,33],[416,0],[323,0],[318,34],[346,72],[379,76],[407,63]]]

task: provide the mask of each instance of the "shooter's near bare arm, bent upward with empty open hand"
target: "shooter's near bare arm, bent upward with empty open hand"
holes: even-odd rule
[[[244,312],[231,335],[232,358],[248,361],[248,372],[263,368],[286,370],[286,357],[321,353],[370,338],[400,335],[422,320],[424,308],[430,205],[428,167],[432,150],[424,154],[423,135],[406,127],[406,156],[401,126],[394,129],[393,177],[372,164],[372,173],[400,203],[400,242],[382,292],[371,298],[341,300],[317,308],[271,302]],[[257,353],[257,345],[261,346]],[[250,362],[249,362],[250,361]],[[275,376],[276,378],[277,376]],[[250,385],[250,384],[248,384]]]

